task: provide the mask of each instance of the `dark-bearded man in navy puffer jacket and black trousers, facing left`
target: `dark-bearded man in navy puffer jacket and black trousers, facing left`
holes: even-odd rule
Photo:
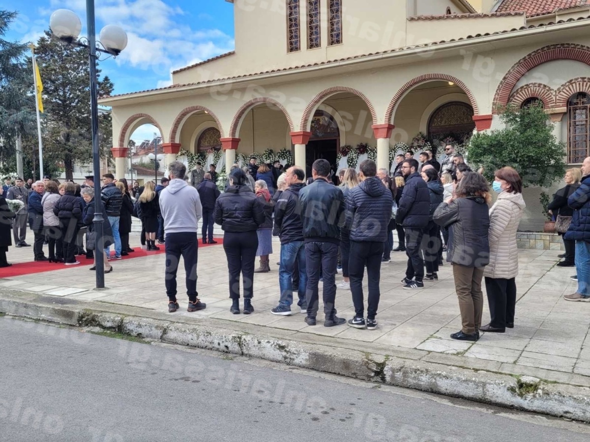
[[[430,219],[430,192],[428,186],[418,174],[418,161],[404,160],[402,174],[405,179],[404,192],[399,199],[395,223],[404,226],[406,238],[406,255],[408,268],[402,279],[404,289],[421,289],[424,287],[424,259],[420,252],[422,236]],[[414,277],[416,278],[414,281]]]

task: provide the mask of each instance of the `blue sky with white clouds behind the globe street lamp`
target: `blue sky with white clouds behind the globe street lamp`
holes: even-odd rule
[[[100,63],[102,74],[113,81],[115,94],[172,84],[172,70],[234,49],[233,7],[224,0],[96,0],[97,34],[117,24],[129,39],[116,60]],[[0,8],[19,13],[9,40],[37,41],[60,8],[78,14],[86,35],[86,0],[0,0]],[[150,132],[145,127],[146,136]]]

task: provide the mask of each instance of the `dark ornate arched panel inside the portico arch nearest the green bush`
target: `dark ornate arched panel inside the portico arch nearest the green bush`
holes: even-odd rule
[[[476,123],[473,107],[462,101],[445,103],[435,110],[428,120],[428,138],[438,146],[446,138],[464,144],[471,138]]]

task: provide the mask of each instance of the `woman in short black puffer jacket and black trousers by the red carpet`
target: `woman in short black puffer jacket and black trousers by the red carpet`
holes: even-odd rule
[[[80,264],[76,260],[76,239],[82,221],[82,199],[76,196],[76,185],[68,182],[64,186],[64,194],[60,197],[53,213],[60,219],[61,238],[63,240],[64,265]]]

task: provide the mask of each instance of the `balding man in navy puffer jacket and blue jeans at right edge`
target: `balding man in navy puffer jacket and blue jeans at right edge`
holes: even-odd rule
[[[580,187],[568,199],[573,209],[572,223],[563,239],[576,242],[576,271],[578,290],[565,295],[566,301],[590,302],[590,157],[582,164]]]

